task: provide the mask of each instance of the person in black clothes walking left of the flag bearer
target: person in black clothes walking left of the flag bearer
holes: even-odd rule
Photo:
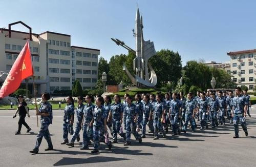
[[[29,133],[31,131],[31,128],[25,122],[25,117],[27,114],[28,114],[28,117],[30,117],[30,115],[29,115],[29,109],[27,107],[27,103],[24,101],[23,95],[18,96],[18,108],[13,118],[16,117],[17,113],[19,115],[19,120],[18,120],[18,131],[15,133],[15,135],[20,134],[20,130],[22,130],[22,125],[24,125],[28,129],[27,133]]]

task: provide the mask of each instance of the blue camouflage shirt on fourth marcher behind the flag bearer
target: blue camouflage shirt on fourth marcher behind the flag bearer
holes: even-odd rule
[[[95,107],[93,110],[93,126],[102,126],[106,117],[107,116],[103,105],[101,105],[100,107]]]

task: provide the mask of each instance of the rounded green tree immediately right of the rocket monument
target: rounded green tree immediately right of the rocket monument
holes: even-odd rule
[[[150,58],[150,63],[157,75],[157,87],[165,85],[171,81],[176,86],[177,81],[181,77],[181,56],[178,52],[170,50],[160,50],[156,55]]]

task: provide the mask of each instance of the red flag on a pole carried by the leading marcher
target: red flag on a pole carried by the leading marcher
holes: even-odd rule
[[[0,98],[8,96],[18,89],[23,79],[33,75],[29,41],[15,60],[3,86],[0,90]]]

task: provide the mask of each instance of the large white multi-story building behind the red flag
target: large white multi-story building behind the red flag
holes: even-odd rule
[[[30,32],[11,30],[14,24],[23,24]],[[29,39],[35,76],[36,93],[71,90],[78,79],[83,89],[93,89],[98,79],[100,50],[71,46],[71,36],[56,32],[32,33],[23,22],[9,25],[0,33],[0,71],[9,72],[19,52]],[[33,92],[32,79],[28,89]]]

